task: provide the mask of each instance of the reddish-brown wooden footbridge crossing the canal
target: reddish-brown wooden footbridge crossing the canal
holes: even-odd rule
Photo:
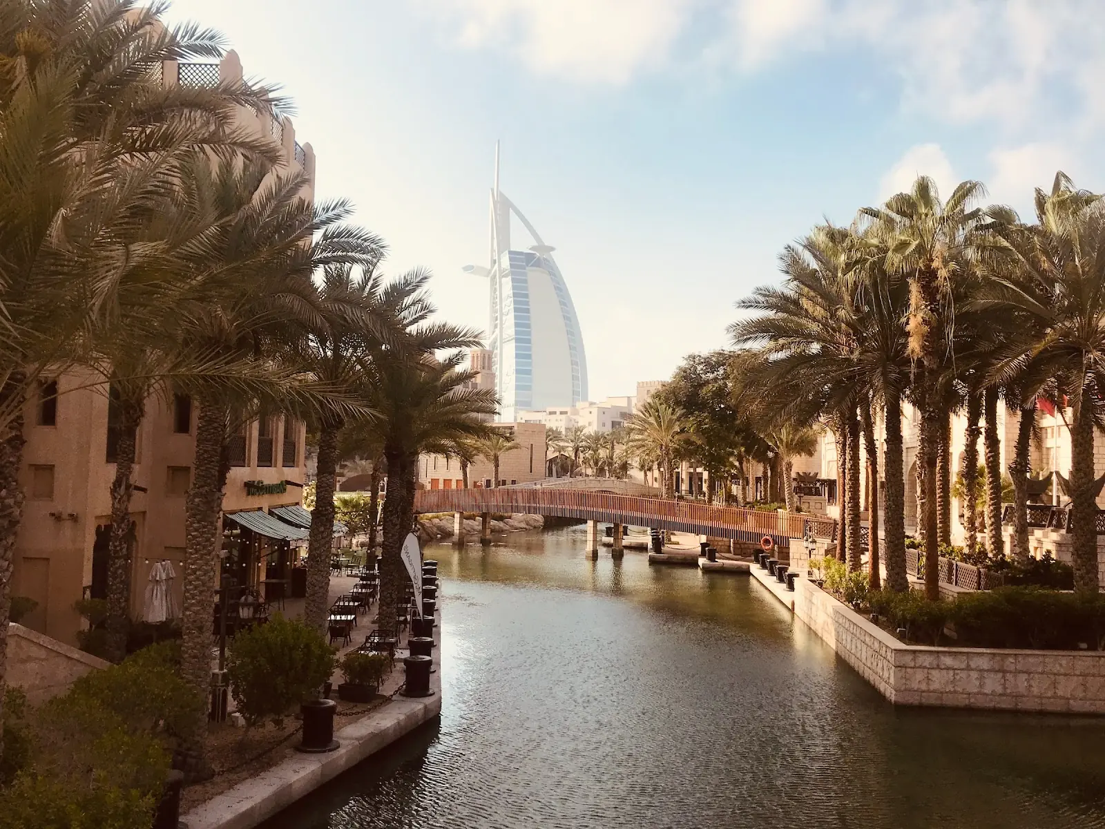
[[[801,538],[807,527],[818,538],[832,538],[836,525],[832,518],[797,513],[711,506],[694,501],[557,489],[551,485],[420,490],[414,496],[414,512],[559,515],[753,543],[769,535],[776,544]]]

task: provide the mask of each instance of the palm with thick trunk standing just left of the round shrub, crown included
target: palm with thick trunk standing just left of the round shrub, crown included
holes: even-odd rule
[[[305,332],[320,327],[325,313],[311,275],[341,263],[371,265],[378,250],[367,243],[375,237],[340,223],[349,212],[345,202],[306,202],[302,174],[275,174],[250,159],[212,165],[202,158],[187,174],[179,210],[203,219],[208,228],[189,248],[194,298],[176,308],[185,332],[182,347],[252,366],[256,376],[272,380],[267,395],[256,385],[243,388],[224,381],[194,389],[199,413],[186,500],[181,672],[196,688],[206,689],[210,578],[229,472],[231,412],[244,419],[267,405],[306,418],[324,400],[335,399],[333,386],[312,375],[312,365],[297,361]],[[212,298],[212,282],[232,287]],[[312,389],[316,393],[308,395]],[[364,408],[350,401],[338,410]]]

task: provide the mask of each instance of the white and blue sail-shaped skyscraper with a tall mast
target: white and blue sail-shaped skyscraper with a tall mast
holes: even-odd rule
[[[511,217],[532,237],[528,250],[511,244]],[[487,347],[495,370],[495,391],[503,401],[499,420],[517,412],[587,400],[587,356],[576,307],[554,248],[498,188],[498,144],[491,191],[491,261],[464,270],[490,284]]]

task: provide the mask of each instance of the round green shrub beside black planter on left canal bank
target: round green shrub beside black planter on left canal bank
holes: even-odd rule
[[[234,638],[227,672],[246,724],[278,725],[334,673],[334,650],[317,631],[277,613]]]

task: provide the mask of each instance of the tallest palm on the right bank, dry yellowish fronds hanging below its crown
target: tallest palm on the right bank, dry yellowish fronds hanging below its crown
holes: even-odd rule
[[[951,280],[968,270],[990,243],[986,233],[988,213],[971,208],[983,193],[980,182],[964,181],[947,202],[941,202],[935,182],[920,176],[909,192],[891,197],[882,208],[863,210],[874,220],[873,233],[885,245],[887,272],[909,280],[912,285],[908,346],[916,368],[914,399],[922,421],[917,469],[925,504],[925,594],[934,600],[939,598],[936,464],[950,321],[944,306]]]

